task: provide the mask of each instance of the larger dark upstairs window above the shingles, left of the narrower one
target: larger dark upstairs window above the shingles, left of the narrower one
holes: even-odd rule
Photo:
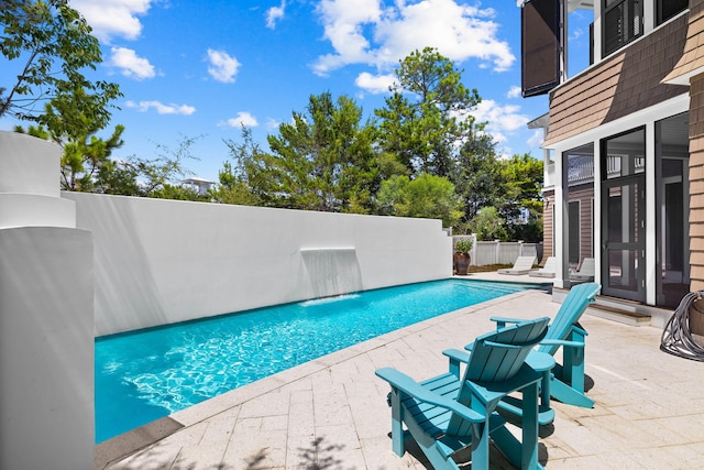
[[[669,3],[671,0],[661,0]],[[604,0],[604,56],[642,35],[644,0]]]

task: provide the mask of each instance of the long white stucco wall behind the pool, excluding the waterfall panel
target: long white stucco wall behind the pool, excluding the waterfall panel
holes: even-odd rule
[[[315,297],[301,250],[353,248],[363,289],[452,274],[440,220],[63,197],[95,238],[96,336]]]

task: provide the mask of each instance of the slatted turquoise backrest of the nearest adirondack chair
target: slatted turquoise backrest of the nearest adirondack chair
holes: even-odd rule
[[[498,382],[513,378],[530,350],[546,337],[549,321],[549,317],[520,321],[476,338],[465,380]]]

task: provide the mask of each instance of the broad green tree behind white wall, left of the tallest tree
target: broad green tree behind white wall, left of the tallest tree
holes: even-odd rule
[[[362,122],[362,109],[349,97],[311,95],[306,112],[293,113],[270,152],[258,145],[226,142],[235,161],[237,182],[265,206],[369,212],[381,184],[373,143],[375,129]]]

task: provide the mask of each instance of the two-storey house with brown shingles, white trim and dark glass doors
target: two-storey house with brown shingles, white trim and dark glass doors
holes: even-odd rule
[[[564,69],[568,12],[592,11],[590,66]],[[585,258],[602,295],[674,308],[704,289],[704,0],[528,0],[524,96],[549,92],[544,256]]]

